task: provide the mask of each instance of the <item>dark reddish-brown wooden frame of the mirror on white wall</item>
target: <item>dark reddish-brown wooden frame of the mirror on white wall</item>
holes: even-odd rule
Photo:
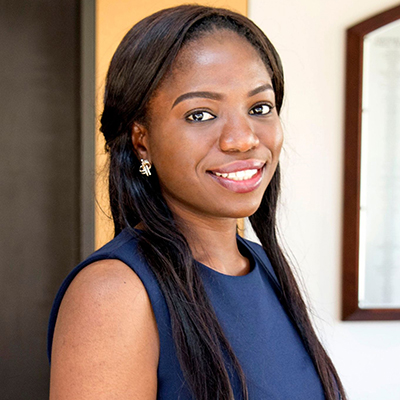
[[[400,320],[398,308],[365,309],[358,306],[363,40],[366,34],[398,19],[400,19],[400,6],[368,18],[347,30],[342,254],[343,320]]]

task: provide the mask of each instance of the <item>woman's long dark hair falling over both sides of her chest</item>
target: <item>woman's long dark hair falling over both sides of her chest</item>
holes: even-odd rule
[[[246,17],[229,10],[184,5],[159,11],[136,24],[124,37],[107,75],[101,131],[109,152],[109,195],[115,235],[141,223],[139,248],[165,296],[181,369],[196,400],[232,400],[226,355],[248,399],[242,368],[226,339],[195,268],[189,245],[177,227],[159,186],[157,171],[139,173],[131,132],[146,125],[147,107],[171,71],[183,46],[215,30],[229,30],[258,51],[271,75],[278,112],[283,101],[279,56],[264,33]],[[151,132],[150,132],[151,134]],[[250,217],[282,286],[281,302],[293,320],[320,376],[325,396],[345,393],[320,344],[292,271],[279,247],[276,208],[279,165],[257,212]],[[145,203],[145,204],[143,204]]]

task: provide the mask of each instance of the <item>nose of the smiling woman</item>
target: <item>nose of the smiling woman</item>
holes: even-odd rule
[[[230,118],[222,127],[219,147],[224,152],[246,152],[256,148],[259,143],[246,117]]]

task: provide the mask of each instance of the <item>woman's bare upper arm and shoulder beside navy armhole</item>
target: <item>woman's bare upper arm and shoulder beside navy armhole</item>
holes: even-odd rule
[[[140,278],[119,260],[85,267],[61,303],[50,399],[155,399],[158,330]]]

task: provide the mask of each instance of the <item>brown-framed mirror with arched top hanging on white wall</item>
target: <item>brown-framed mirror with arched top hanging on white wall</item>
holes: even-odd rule
[[[347,31],[343,319],[400,319],[400,7]]]

